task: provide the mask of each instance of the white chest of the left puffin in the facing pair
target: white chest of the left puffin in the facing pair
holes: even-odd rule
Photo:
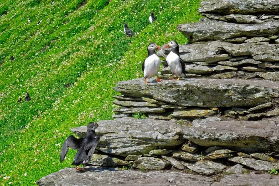
[[[158,75],[160,59],[156,54],[150,55],[144,61],[144,78],[151,78]]]

